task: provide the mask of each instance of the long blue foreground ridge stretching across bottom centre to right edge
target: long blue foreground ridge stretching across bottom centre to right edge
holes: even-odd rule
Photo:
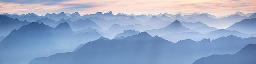
[[[214,41],[204,38],[201,41],[172,43],[141,32],[123,39],[90,41],[74,52],[39,57],[29,64],[192,64],[204,56],[237,52],[246,44],[254,44],[254,41],[255,37],[227,36]]]

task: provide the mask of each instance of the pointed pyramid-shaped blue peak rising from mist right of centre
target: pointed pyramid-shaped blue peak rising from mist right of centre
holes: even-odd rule
[[[182,33],[191,31],[192,30],[190,30],[189,28],[185,28],[184,26],[182,26],[182,24],[178,20],[175,20],[169,26],[159,29],[147,30],[146,32],[150,33],[151,35],[163,36],[170,33]]]

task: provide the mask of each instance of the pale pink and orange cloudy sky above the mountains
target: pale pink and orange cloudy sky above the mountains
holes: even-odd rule
[[[0,13],[96,12],[138,14],[210,13],[217,17],[256,12],[256,0],[0,0]]]

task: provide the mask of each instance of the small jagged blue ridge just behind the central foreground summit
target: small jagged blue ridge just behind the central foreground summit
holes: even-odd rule
[[[125,31],[123,31],[123,33],[117,34],[114,38],[122,37],[122,36],[124,36],[124,37],[132,36],[132,35],[135,35],[135,34],[138,34],[138,33],[140,33],[140,32],[135,31],[135,30],[125,30]]]

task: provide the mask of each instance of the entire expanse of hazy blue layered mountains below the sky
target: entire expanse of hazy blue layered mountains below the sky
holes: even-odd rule
[[[255,28],[242,12],[3,13],[0,64],[253,64]]]

